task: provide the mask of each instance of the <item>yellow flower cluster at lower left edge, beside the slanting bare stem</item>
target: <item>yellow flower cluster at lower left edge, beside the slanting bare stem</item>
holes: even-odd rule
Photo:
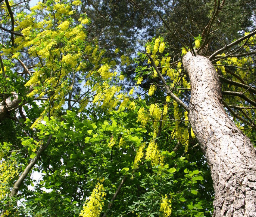
[[[0,200],[3,200],[10,193],[11,180],[18,175],[17,162],[2,161],[0,164]]]

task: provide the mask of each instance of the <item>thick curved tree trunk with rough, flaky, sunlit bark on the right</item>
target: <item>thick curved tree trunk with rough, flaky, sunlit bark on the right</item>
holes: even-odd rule
[[[183,57],[191,82],[189,121],[211,168],[214,217],[256,216],[256,155],[250,140],[229,119],[212,63],[203,56]]]

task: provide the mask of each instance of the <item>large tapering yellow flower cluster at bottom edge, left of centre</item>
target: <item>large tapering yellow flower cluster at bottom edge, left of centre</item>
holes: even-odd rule
[[[83,206],[79,216],[81,217],[98,217],[104,206],[103,200],[105,200],[106,193],[104,192],[103,185],[98,182],[92,191],[91,196]]]

